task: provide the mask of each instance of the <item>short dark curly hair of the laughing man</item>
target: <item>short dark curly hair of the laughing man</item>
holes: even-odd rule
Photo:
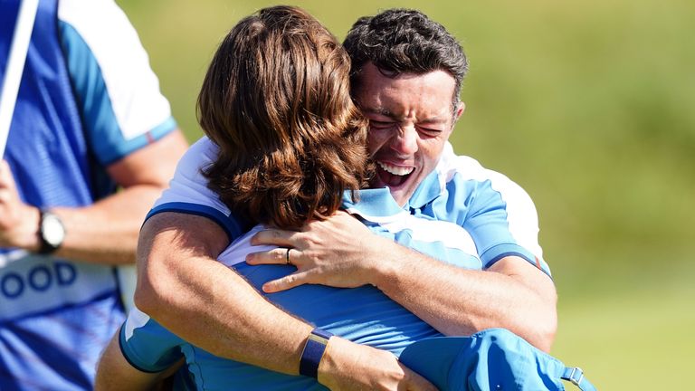
[[[468,71],[466,54],[442,24],[420,11],[394,8],[363,16],[352,25],[343,46],[352,60],[353,89],[359,87],[359,75],[367,62],[393,74],[443,70],[456,81],[454,107],[459,102],[463,77]]]

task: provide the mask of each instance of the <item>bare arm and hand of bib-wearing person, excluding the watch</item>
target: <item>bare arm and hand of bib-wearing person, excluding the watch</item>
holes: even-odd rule
[[[173,176],[186,145],[176,130],[110,164],[109,176],[122,189],[93,205],[44,206],[65,227],[64,240],[53,254],[91,263],[133,263],[140,225]],[[0,189],[6,194],[0,200],[0,245],[37,252],[40,210],[20,200],[5,162],[0,164]]]

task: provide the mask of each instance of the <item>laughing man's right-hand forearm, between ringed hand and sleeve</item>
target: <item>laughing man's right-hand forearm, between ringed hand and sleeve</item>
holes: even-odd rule
[[[380,246],[372,283],[443,334],[505,328],[550,349],[557,329],[557,295],[547,275],[530,263],[509,258],[488,271],[471,271],[389,241]]]

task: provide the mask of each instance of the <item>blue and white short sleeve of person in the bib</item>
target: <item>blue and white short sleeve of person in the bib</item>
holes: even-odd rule
[[[59,32],[90,147],[108,165],[176,129],[148,53],[112,0],[62,0]]]

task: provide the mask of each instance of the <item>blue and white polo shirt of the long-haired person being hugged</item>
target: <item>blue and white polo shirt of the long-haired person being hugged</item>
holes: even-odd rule
[[[346,206],[382,217],[395,214],[412,217],[401,208],[390,207],[388,200],[393,202],[388,190],[368,190],[360,192],[357,203],[346,199]],[[378,205],[385,207],[379,208]],[[423,219],[423,222],[428,221]],[[417,225],[413,225],[414,233],[394,234],[380,224],[366,223],[376,234],[393,238],[399,243],[405,240],[412,248],[442,262],[460,267],[481,267],[481,262],[470,253],[450,249],[443,242],[424,243],[414,239],[417,236]],[[221,262],[224,262],[225,254],[226,251],[220,256]],[[288,265],[252,266],[246,262],[234,264],[233,268],[259,291],[263,283],[297,270],[294,266]],[[414,341],[442,336],[439,331],[373,286],[340,289],[307,284],[288,291],[261,293],[283,310],[300,319],[306,319],[319,329],[360,344],[388,350],[396,356]],[[121,350],[131,364],[141,370],[159,371],[176,358],[179,350],[183,350],[189,370],[195,377],[199,389],[325,389],[309,377],[291,377],[242,362],[217,358],[182,341],[157,324],[154,319],[142,323],[143,316],[147,317],[146,315],[140,313],[138,318],[134,319],[132,314],[133,312],[125,328],[132,329],[132,336],[126,338],[125,334],[121,333]]]

